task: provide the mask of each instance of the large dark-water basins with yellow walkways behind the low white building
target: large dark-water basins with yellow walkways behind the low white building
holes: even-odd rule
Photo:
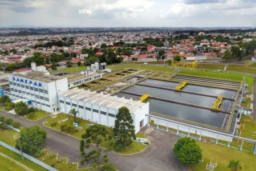
[[[135,100],[140,98],[140,96],[136,94],[143,95],[147,93],[152,96],[152,98],[147,100],[150,103],[149,110],[151,112],[161,113],[162,115],[176,117],[177,119],[192,121],[194,123],[210,125],[212,127],[224,128],[225,119],[229,119],[234,103],[233,99],[237,91],[193,84],[188,84],[182,89],[184,92],[174,91],[174,88],[178,86],[178,84],[180,83],[145,79],[139,82],[138,85],[135,84],[125,88],[116,95]],[[131,92],[131,94],[129,92]],[[223,95],[226,99],[222,101],[220,111],[213,111],[210,108],[213,106],[218,95]],[[168,100],[175,100],[184,104],[172,103]]]

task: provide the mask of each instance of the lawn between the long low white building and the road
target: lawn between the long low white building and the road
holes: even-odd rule
[[[58,116],[58,117],[55,117],[55,118],[49,117],[48,119],[46,119],[44,121],[44,125],[46,127],[50,127],[52,129],[55,129],[56,131],[59,131],[59,128],[60,128],[61,125],[63,125],[63,124],[72,125],[73,124],[73,116],[71,116],[71,115],[67,115],[67,114],[64,114],[64,113],[59,113],[56,116]],[[59,121],[67,119],[67,118],[68,118],[67,121],[64,121],[63,123],[58,123]],[[91,122],[87,121],[87,120],[83,120],[83,119],[79,119],[79,120],[81,121],[81,123],[79,124],[79,127],[82,127],[83,129],[76,128],[76,129],[78,129],[78,132],[75,132],[75,129],[72,129],[71,132],[67,132],[67,134],[71,135],[71,136],[74,136],[78,139],[81,139],[81,136],[86,132],[86,128],[89,126],[89,124]],[[54,122],[56,122],[57,124],[55,126],[51,126],[51,124],[54,123]],[[109,130],[108,127],[107,127],[107,129]],[[102,142],[101,146],[103,148],[109,149],[110,143],[111,143],[110,140],[104,140],[103,139],[103,142]],[[117,152],[117,153],[120,153],[120,154],[133,154],[133,153],[140,152],[141,150],[143,150],[145,148],[146,148],[145,145],[133,142],[131,144],[131,146],[128,146],[126,149],[124,149],[123,152],[117,152],[113,148],[112,148],[112,150],[114,152]]]

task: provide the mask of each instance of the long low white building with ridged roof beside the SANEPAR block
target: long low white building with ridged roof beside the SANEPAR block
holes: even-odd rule
[[[146,114],[149,113],[149,103],[78,88],[58,93],[58,96],[60,112],[68,114],[75,108],[78,117],[107,127],[115,125],[116,115],[121,107],[129,109],[136,133],[148,123]]]

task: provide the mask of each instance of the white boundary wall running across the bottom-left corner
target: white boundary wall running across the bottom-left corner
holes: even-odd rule
[[[5,148],[7,148],[7,149],[9,149],[9,150],[12,150],[13,152],[18,153],[18,154],[21,155],[21,151],[18,150],[18,149],[15,149],[13,146],[10,146],[10,145],[8,145],[8,144],[5,144],[5,143],[3,143],[2,141],[0,141],[0,145],[2,145],[2,146],[4,146]],[[57,169],[52,168],[51,166],[45,164],[44,162],[42,162],[42,161],[40,161],[40,160],[37,160],[37,159],[34,158],[34,157],[29,156],[29,155],[26,154],[26,153],[23,153],[23,156],[24,156],[25,158],[27,158],[28,160],[30,160],[30,161],[32,161],[32,162],[35,162],[36,164],[42,166],[43,168],[46,168],[47,170],[50,170],[50,171],[58,171]]]

